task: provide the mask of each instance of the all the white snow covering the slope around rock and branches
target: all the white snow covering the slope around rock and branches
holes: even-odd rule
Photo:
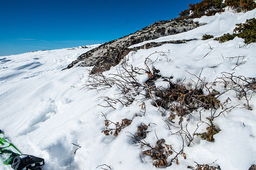
[[[184,44],[164,44],[160,47],[140,49],[131,52],[129,64],[133,67],[145,68],[145,58],[150,55],[156,69],[162,76],[173,77],[173,80],[196,80],[188,72],[205,77],[205,82],[212,82],[221,77],[221,72],[235,72],[236,75],[256,77],[256,44],[244,46],[244,40],[235,38],[232,41],[219,43],[209,39],[200,40],[205,33],[218,37],[224,33],[231,33],[237,23],[244,23],[246,19],[254,18],[256,9],[246,13],[234,13],[226,10],[211,17],[195,19],[207,23],[191,31],[161,37],[154,41],[170,41],[197,38]],[[139,46],[143,43],[140,43]],[[242,47],[243,46],[243,47]],[[93,46],[97,47],[97,46]],[[239,48],[242,47],[242,48]],[[212,48],[212,50],[211,50]],[[171,131],[157,111],[152,106],[151,99],[145,101],[145,116],[139,115],[141,103],[134,102],[129,107],[114,104],[112,107],[101,107],[106,102],[100,96],[116,97],[115,87],[106,90],[80,90],[88,84],[88,71],[85,67],[73,67],[62,70],[79,55],[92,48],[59,49],[50,51],[29,52],[20,55],[0,57],[0,129],[14,145],[24,154],[31,154],[45,159],[45,170],[48,169],[95,169],[98,165],[107,164],[112,169],[157,169],[152,165],[150,157],[142,155],[145,149],[132,144],[127,133],[136,134],[140,123],[155,123],[148,127],[147,138],[151,146],[156,145],[157,137],[164,138],[166,144],[172,144],[175,150],[182,147],[180,136],[171,135]],[[169,52],[168,58],[156,51]],[[211,51],[208,55],[206,55]],[[205,56],[206,55],[206,56]],[[237,59],[225,57],[244,55],[247,62],[236,67]],[[204,57],[205,56],[205,57]],[[222,57],[223,56],[223,57]],[[158,58],[157,58],[158,57]],[[236,69],[234,69],[236,67]],[[233,70],[234,69],[234,70]],[[62,70],[62,71],[61,71]],[[186,72],[186,70],[188,72]],[[116,67],[104,72],[104,75],[115,74]],[[143,83],[147,74],[138,76]],[[163,85],[157,82],[156,85]],[[238,100],[235,93],[228,92],[221,96],[224,101],[229,97],[230,106],[240,104],[245,100]],[[187,166],[212,163],[216,159],[222,170],[247,170],[256,164],[256,100],[250,100],[252,111],[246,108],[233,109],[229,114],[220,115],[214,124],[221,131],[214,135],[215,142],[207,142],[201,138],[194,139],[189,147],[184,147],[187,159],[179,157],[180,165],[175,163],[166,169],[187,169]],[[122,119],[132,119],[132,124],[123,129],[118,137],[105,136],[101,133],[105,129],[102,113],[113,122]],[[209,116],[209,111],[202,112],[202,118]],[[199,122],[198,116],[191,116],[188,129],[191,133]],[[177,125],[178,121],[174,125]],[[205,132],[202,125],[199,132]],[[77,149],[77,146],[81,146]],[[140,156],[142,159],[140,159]],[[167,159],[168,160],[168,159]],[[147,163],[145,162],[147,161]],[[175,162],[175,161],[174,161]],[[106,167],[105,167],[106,168]],[[0,169],[5,169],[0,165]],[[99,169],[99,168],[98,168]]]

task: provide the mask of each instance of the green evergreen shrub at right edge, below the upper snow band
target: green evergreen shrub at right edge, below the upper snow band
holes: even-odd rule
[[[256,19],[247,19],[244,24],[236,24],[236,28],[234,29],[234,33],[231,35],[229,33],[222,35],[221,37],[215,38],[219,42],[226,42],[229,40],[233,40],[236,36],[239,38],[243,38],[244,43],[256,42]]]

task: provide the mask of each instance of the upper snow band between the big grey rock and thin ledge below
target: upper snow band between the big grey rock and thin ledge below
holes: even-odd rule
[[[248,18],[255,18],[255,11],[248,11],[246,13],[240,12],[235,13],[228,7],[226,7],[225,12],[216,13],[214,16],[203,16],[201,18],[195,18],[194,22],[206,23],[204,26],[199,26],[187,32],[168,35],[164,37],[157,38],[155,40],[144,41],[129,48],[139,47],[148,42],[162,42],[162,41],[172,41],[172,40],[190,40],[190,39],[202,39],[204,34],[213,35],[214,38],[220,37],[224,33],[233,33],[236,24],[245,23]]]

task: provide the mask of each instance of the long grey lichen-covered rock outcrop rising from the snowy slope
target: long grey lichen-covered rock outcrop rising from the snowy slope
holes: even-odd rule
[[[194,23],[193,19],[158,21],[141,29],[140,31],[124,36],[117,40],[109,41],[80,55],[77,60],[69,64],[66,69],[69,69],[82,61],[82,63],[80,63],[78,66],[95,66],[94,71],[96,72],[109,70],[111,66],[119,63],[120,60],[130,51],[142,48],[128,48],[131,45],[138,44],[143,41],[154,40],[167,35],[186,32],[200,25],[202,24]],[[186,40],[165,42],[184,43]],[[159,44],[163,43],[164,42],[149,43],[148,48],[157,47]]]

